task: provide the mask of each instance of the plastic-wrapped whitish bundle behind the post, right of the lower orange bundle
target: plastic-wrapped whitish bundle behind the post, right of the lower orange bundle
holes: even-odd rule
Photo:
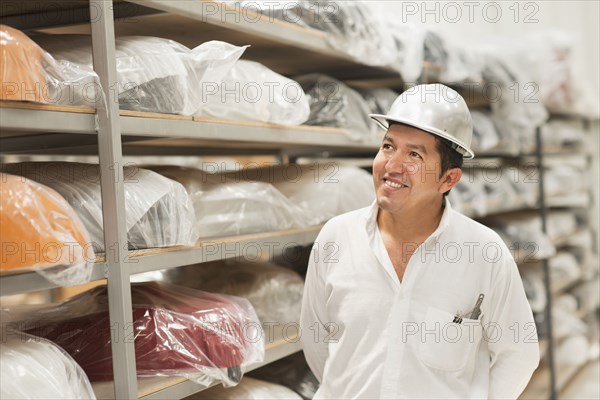
[[[104,249],[98,165],[28,162],[6,164],[2,168],[60,193],[79,214],[94,247],[98,251]],[[194,208],[183,186],[145,169],[123,170],[129,248],[193,245],[198,239]]]

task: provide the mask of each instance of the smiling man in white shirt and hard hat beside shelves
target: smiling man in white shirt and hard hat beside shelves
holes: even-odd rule
[[[539,362],[517,266],[445,196],[474,156],[467,105],[446,86],[419,85],[371,117],[387,129],[376,201],[323,227],[306,276],[315,398],[517,398]]]

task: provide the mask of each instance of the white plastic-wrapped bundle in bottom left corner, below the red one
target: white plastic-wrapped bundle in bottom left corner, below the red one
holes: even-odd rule
[[[21,332],[2,335],[1,399],[95,399],[79,365],[54,343]]]

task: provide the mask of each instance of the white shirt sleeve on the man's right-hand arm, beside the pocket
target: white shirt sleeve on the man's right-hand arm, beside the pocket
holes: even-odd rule
[[[507,249],[508,251],[508,249]],[[540,361],[538,337],[519,270],[508,257],[492,282],[489,315],[482,318],[490,351],[490,399],[516,399]]]

